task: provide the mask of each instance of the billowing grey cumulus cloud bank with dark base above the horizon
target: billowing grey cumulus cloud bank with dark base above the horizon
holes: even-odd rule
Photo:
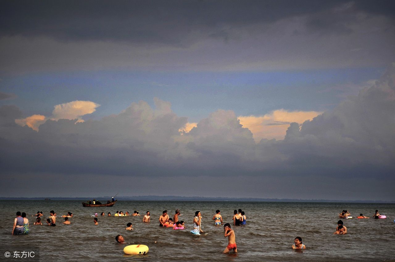
[[[155,98],[100,121],[48,120],[39,132],[17,126],[15,106],[0,110],[2,175],[7,172],[225,177],[316,175],[389,182],[395,171],[395,64],[372,87],[300,127],[284,140],[256,144],[233,111],[218,110],[179,134],[187,120]]]

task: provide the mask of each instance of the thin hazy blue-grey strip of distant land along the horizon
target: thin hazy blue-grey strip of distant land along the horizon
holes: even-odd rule
[[[98,201],[109,200],[111,197],[0,197],[0,200],[81,200],[97,199]],[[383,200],[331,200],[331,199],[272,199],[272,198],[231,198],[231,197],[180,197],[180,196],[135,196],[116,197],[124,201],[229,201],[229,202],[312,202],[312,203],[383,203],[391,204],[395,201]]]

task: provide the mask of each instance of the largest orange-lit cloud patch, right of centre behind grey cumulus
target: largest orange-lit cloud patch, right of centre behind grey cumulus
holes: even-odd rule
[[[290,123],[303,123],[311,120],[322,112],[317,111],[287,111],[275,110],[263,116],[239,116],[240,124],[248,128],[256,142],[263,138],[276,140],[284,139],[286,130]]]

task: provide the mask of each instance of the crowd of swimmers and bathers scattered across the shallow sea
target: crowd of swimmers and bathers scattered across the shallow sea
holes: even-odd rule
[[[246,225],[246,215],[245,212],[241,209],[239,210],[234,210],[234,215],[233,215],[233,225],[234,226],[242,226]],[[47,218],[46,222],[48,226],[55,227],[56,226],[56,213],[51,210],[49,212],[50,216]],[[347,210],[343,210],[341,213],[339,213],[339,218],[349,218],[350,213]],[[43,217],[43,212],[38,211],[36,215],[36,222],[33,223],[33,225],[43,225],[41,222],[41,217]],[[105,213],[102,212],[100,216],[105,216]],[[108,212],[107,216],[111,216],[111,213]],[[132,215],[129,215],[129,212],[126,211],[125,214],[122,211],[117,211],[114,216],[140,216],[139,212],[136,210]],[[167,214],[167,210],[164,210],[162,212],[162,215],[159,217],[159,227],[170,227],[173,230],[183,230],[186,229],[185,222],[179,220],[179,216],[181,215],[181,211],[179,209],[175,210],[175,214],[173,218],[169,217]],[[374,213],[374,218],[378,218],[380,214],[378,213],[378,210],[375,211]],[[68,212],[67,215],[63,215],[64,217],[64,222],[63,224],[68,225],[70,224],[69,217],[73,217],[73,213]],[[94,219],[94,225],[99,225],[98,224],[98,213],[95,213],[93,215]],[[363,214],[360,214],[357,218],[369,218],[367,216],[363,216]],[[200,233],[204,232],[201,229],[201,212],[196,211],[195,216],[193,219],[193,229],[190,231],[192,234],[200,235]],[[223,224],[222,216],[220,210],[216,210],[216,214],[214,214],[212,220],[214,220],[214,225],[216,226],[221,226]],[[150,222],[150,212],[147,211],[146,214],[143,216],[143,222],[148,223]],[[132,223],[127,223],[125,230],[133,230]],[[12,233],[13,235],[21,235],[21,234],[28,234],[29,233],[29,220],[26,218],[26,213],[23,212],[21,213],[18,211],[16,213],[16,217],[14,219],[14,224],[12,228]],[[344,223],[342,220],[337,221],[337,227],[336,231],[333,234],[347,234],[347,227],[344,226]],[[237,253],[237,245],[236,245],[236,237],[235,237],[235,232],[231,229],[231,225],[229,223],[225,223],[224,225],[224,236],[228,237],[228,246],[225,248],[224,253],[228,253],[229,251],[232,251],[234,253]],[[122,235],[117,235],[115,237],[115,240],[118,243],[124,243],[124,238]],[[294,244],[292,245],[292,249],[306,249],[306,245],[302,243],[302,238],[301,237],[296,237],[294,240]]]

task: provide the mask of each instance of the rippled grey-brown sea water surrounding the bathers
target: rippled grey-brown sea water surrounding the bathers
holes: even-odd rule
[[[36,251],[40,261],[386,261],[395,260],[395,204],[367,203],[295,203],[295,202],[211,202],[211,201],[118,201],[113,207],[88,208],[82,201],[0,201],[3,216],[0,223],[1,261],[33,261],[14,258],[14,251]],[[106,201],[102,201],[106,203]],[[173,217],[179,208],[186,230],[159,227],[159,216],[168,210]],[[247,225],[233,227],[233,210],[243,209]],[[224,228],[214,226],[212,217],[219,209],[224,223],[235,231],[237,254],[222,254],[228,245]],[[348,234],[333,235],[338,213],[346,209],[353,217],[359,213],[372,216],[378,209],[387,219],[343,219]],[[44,223],[49,211],[57,214],[56,227],[33,225],[37,211],[43,211]],[[139,211],[141,216],[98,217],[94,213],[115,214]],[[150,223],[143,223],[149,210]],[[194,236],[192,221],[201,211],[205,234]],[[28,235],[12,236],[17,211],[26,212],[30,221]],[[70,211],[71,225],[63,225],[60,216]],[[131,222],[134,230],[125,230]],[[124,245],[115,242],[122,234]],[[306,250],[293,250],[296,236],[303,239]],[[127,244],[144,244],[147,255],[124,255]],[[23,249],[23,250],[22,250]],[[5,252],[11,256],[6,258]],[[38,252],[37,252],[38,251]],[[37,257],[36,257],[37,258]]]

